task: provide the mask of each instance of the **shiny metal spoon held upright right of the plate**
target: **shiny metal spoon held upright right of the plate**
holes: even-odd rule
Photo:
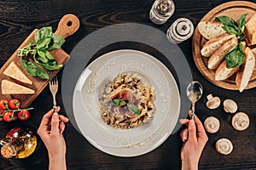
[[[190,82],[186,92],[189,100],[192,102],[191,119],[194,119],[195,102],[201,98],[201,95],[203,93],[201,83],[196,81]]]

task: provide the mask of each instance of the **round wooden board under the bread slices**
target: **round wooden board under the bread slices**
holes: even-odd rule
[[[215,17],[221,15],[227,15],[233,18],[233,20],[239,20],[241,14],[247,14],[247,20],[251,18],[253,14],[256,13],[256,3],[251,3],[247,1],[234,1],[229,3],[223,3],[216,8],[213,8],[208,12],[201,21],[212,21]],[[236,87],[236,74],[224,81],[215,81],[215,70],[207,68],[207,62],[209,58],[203,57],[201,55],[201,48],[207,42],[207,39],[201,36],[198,28],[196,27],[192,42],[193,57],[195,60],[195,65],[201,74],[206,77],[210,82],[217,85],[220,88],[226,88],[230,90],[238,90]],[[254,68],[253,76],[247,85],[246,89],[256,87],[256,69]]]

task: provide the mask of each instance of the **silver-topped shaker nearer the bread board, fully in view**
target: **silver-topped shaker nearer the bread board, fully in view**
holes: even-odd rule
[[[192,36],[194,32],[193,23],[186,18],[179,18],[172,23],[166,32],[167,38],[173,43],[183,42]]]

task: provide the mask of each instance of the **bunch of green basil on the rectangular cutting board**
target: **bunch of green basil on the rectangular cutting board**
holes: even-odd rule
[[[44,69],[48,71],[55,71],[57,69],[60,69],[63,65],[57,65],[55,58],[49,53],[49,50],[61,48],[61,45],[65,42],[65,39],[53,33],[52,28],[50,26],[43,27],[40,30],[38,30],[35,33],[34,37],[36,42],[30,41],[26,47],[19,49],[18,56],[20,56],[21,63],[22,62],[25,63],[22,60],[26,60],[26,59],[21,59],[22,57],[31,56],[36,64],[43,66]],[[37,65],[33,64],[32,67],[34,68],[32,71],[27,71],[29,67],[26,67],[26,68],[23,67],[23,69],[33,77],[42,78],[41,73],[43,71],[38,71],[40,68]],[[45,79],[49,79],[49,76],[48,78],[45,76],[43,77]]]

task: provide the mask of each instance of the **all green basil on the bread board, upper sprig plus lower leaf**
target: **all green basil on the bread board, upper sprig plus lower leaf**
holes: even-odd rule
[[[230,34],[235,34],[239,41],[236,47],[225,55],[228,69],[239,66],[244,62],[244,53],[242,51],[241,40],[245,37],[244,28],[246,24],[246,17],[247,14],[242,14],[238,20],[238,24],[236,24],[236,22],[228,16],[219,16],[215,18],[215,20],[218,20],[223,24],[224,31],[227,31]]]

